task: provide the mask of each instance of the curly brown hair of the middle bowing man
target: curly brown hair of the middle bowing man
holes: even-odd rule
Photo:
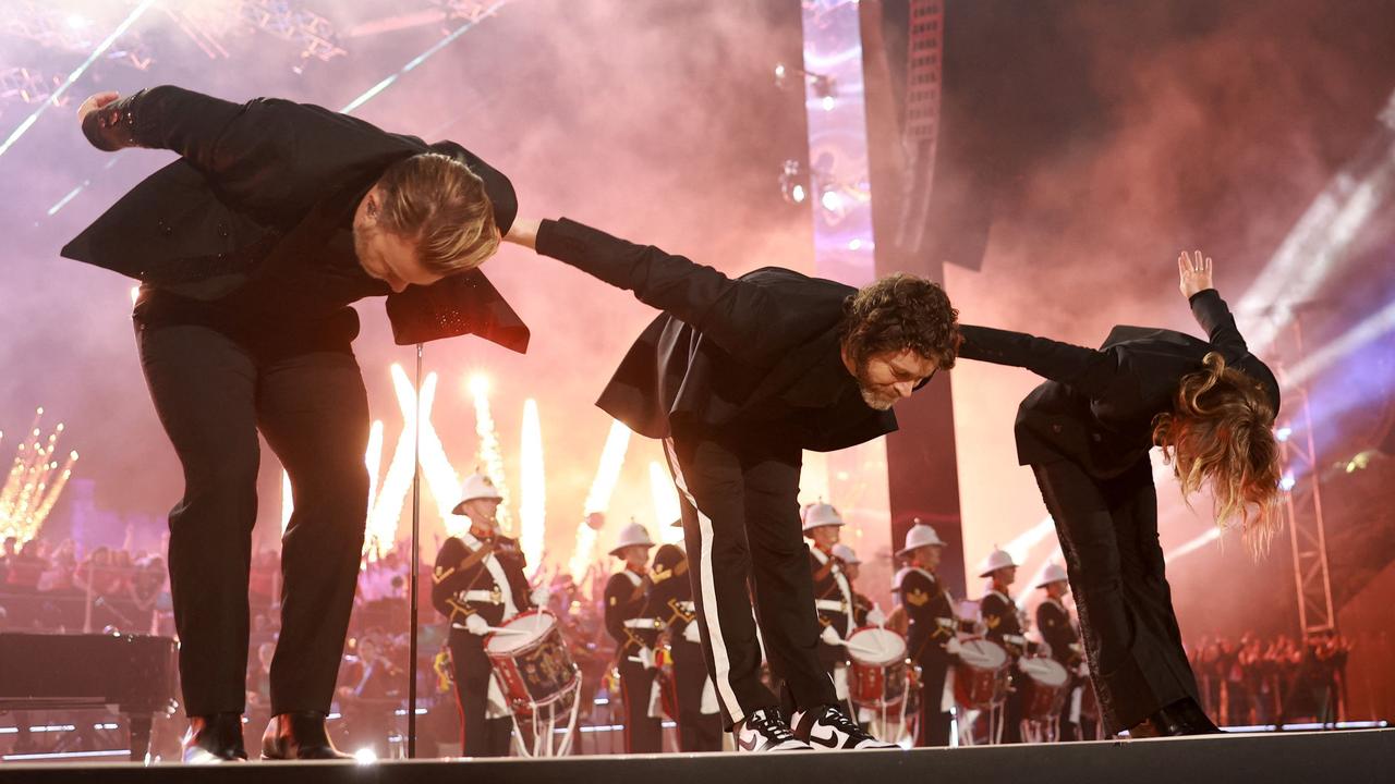
[[[898,272],[864,286],[843,303],[843,346],[862,367],[887,352],[911,349],[935,361],[939,370],[954,367],[958,353],[958,311],[939,283]]]

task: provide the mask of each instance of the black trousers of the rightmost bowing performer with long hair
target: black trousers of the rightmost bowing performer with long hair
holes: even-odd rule
[[[1069,460],[1032,466],[1056,520],[1081,638],[1115,735],[1180,699],[1197,699],[1158,543],[1158,494],[1147,459],[1113,478]]]

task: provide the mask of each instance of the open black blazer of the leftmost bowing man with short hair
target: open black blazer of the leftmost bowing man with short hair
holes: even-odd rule
[[[156,86],[95,112],[84,133],[99,149],[162,148],[180,159],[121,197],[63,257],[193,299],[230,293],[306,216],[350,206],[389,165],[421,152],[478,174],[501,232],[518,212],[508,177],[455,142],[427,145],[290,100],[239,105]],[[527,347],[527,328],[478,269],[388,294],[388,317],[403,345],[474,333]]]

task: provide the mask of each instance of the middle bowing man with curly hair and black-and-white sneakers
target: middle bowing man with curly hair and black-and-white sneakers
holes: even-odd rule
[[[732,279],[566,219],[516,220],[505,240],[663,311],[598,405],[664,439],[707,668],[738,749],[887,748],[838,707],[819,663],[801,451],[896,430],[891,406],[954,364],[944,292],[912,275],[858,290],[776,266]],[[760,681],[757,618],[790,717]]]

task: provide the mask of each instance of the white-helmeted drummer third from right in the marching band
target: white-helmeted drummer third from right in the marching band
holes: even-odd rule
[[[950,593],[935,569],[944,543],[925,523],[911,526],[897,557],[907,566],[896,575],[896,594],[907,617],[907,650],[921,668],[921,720],[917,746],[950,745],[950,714],[944,710],[944,681],[958,651],[957,621]]]

